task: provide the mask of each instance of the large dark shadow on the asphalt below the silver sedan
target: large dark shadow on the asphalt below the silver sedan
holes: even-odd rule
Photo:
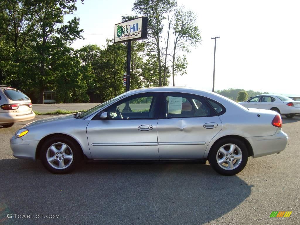
[[[4,224],[203,224],[251,193],[238,176],[221,176],[208,164],[84,164],[55,175],[40,161],[4,159],[0,174]]]

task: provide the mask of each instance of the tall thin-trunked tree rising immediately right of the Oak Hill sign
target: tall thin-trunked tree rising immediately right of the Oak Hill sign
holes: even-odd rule
[[[148,39],[144,41],[149,52],[155,53],[158,59],[159,86],[162,86],[161,33],[165,14],[176,7],[175,0],[135,0],[133,11],[148,17]]]

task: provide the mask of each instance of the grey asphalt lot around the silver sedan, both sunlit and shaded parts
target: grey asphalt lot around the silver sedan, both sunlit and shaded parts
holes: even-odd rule
[[[283,152],[249,158],[229,177],[208,163],[83,164],[54,175],[40,161],[13,158],[9,139],[25,124],[0,128],[0,224],[300,224],[299,116],[283,118]]]

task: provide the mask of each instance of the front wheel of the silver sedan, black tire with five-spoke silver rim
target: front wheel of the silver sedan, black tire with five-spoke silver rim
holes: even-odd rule
[[[52,148],[50,149],[50,147]],[[66,174],[79,165],[82,159],[82,150],[78,143],[66,137],[51,137],[42,145],[40,156],[43,166],[49,172]],[[53,158],[52,163],[49,162],[51,158]],[[60,165],[61,168],[59,168]]]

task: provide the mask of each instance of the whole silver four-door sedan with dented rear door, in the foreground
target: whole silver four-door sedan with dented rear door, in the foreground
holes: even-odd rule
[[[259,115],[258,115],[259,113]],[[82,113],[37,120],[10,140],[13,156],[52,173],[90,161],[209,161],[234,175],[253,158],[283,151],[281,117],[190,88],[128,91]]]

